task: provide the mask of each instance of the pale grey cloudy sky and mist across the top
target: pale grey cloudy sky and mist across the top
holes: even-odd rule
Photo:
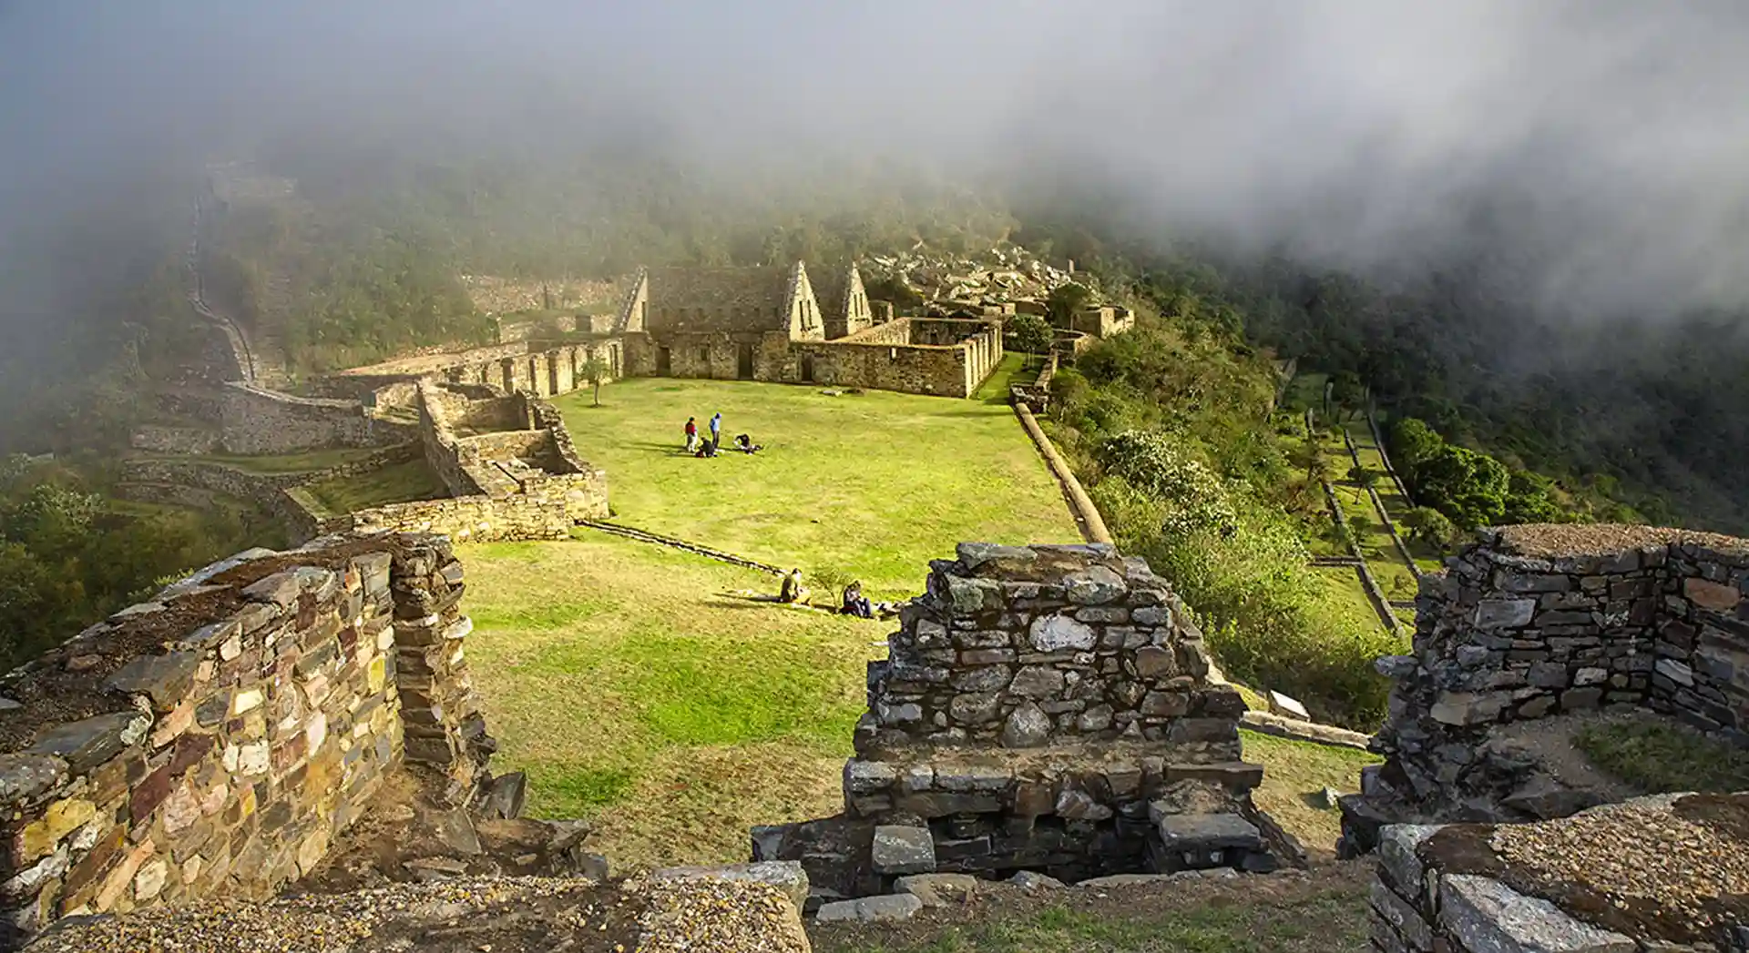
[[[1749,301],[1746,89],[1740,0],[0,0],[0,297],[259,136],[540,124],[1097,184],[1357,269],[1504,210],[1537,304],[1653,318]]]

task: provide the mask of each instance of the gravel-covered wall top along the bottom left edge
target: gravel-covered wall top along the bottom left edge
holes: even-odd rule
[[[472,878],[65,923],[31,953],[806,953],[763,883]]]

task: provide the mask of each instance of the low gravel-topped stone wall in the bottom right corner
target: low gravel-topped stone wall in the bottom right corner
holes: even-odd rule
[[[1749,794],[1642,797],[1523,825],[1380,834],[1380,953],[1749,950]]]

